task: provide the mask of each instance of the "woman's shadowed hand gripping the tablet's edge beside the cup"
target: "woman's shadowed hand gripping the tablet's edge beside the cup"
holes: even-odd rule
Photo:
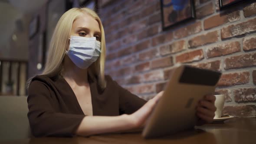
[[[213,122],[216,107],[214,105],[216,97],[214,95],[205,95],[197,104],[197,125]]]

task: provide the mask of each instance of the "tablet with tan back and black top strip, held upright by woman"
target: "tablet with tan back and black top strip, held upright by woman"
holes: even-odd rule
[[[204,95],[214,93],[220,76],[221,72],[189,65],[174,68],[142,136],[160,137],[194,128],[197,103]]]

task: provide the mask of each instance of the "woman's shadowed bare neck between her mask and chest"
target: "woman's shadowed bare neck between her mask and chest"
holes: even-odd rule
[[[64,57],[64,72],[63,77],[69,82],[74,82],[77,85],[88,85],[88,71],[87,69],[80,69],[77,67],[68,56]]]

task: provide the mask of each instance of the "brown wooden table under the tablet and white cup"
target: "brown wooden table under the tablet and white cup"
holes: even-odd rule
[[[0,144],[256,144],[256,118],[233,118],[159,139],[143,139],[141,133],[130,133],[0,140]]]

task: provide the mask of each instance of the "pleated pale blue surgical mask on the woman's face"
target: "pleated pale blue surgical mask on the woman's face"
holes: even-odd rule
[[[95,37],[71,36],[66,54],[80,69],[87,69],[100,56],[101,43]]]

